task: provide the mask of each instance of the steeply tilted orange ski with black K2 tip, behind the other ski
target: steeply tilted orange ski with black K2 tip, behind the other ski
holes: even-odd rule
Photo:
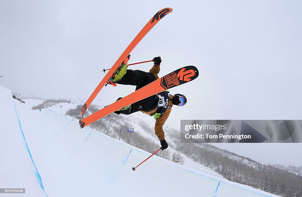
[[[104,87],[106,82],[110,79],[114,71],[118,68],[119,65],[126,59],[126,57],[130,54],[130,52],[134,49],[134,47],[137,46],[137,44],[145,37],[145,35],[160,21],[165,15],[172,12],[172,8],[164,8],[160,11],[158,11],[151,19],[150,21],[143,27],[143,29],[140,31],[140,33],[137,34],[137,36],[132,40],[132,42],[129,44],[127,49],[122,53],[122,55],[117,59],[117,61],[114,63],[114,65],[111,67],[111,69],[108,71],[108,73],[105,75],[103,80],[98,84],[98,86],[95,88],[95,90],[92,92],[84,106],[81,110],[81,118],[83,118],[83,115],[87,108],[90,106],[92,101],[95,99],[95,97],[98,95],[98,93],[101,91],[101,89]]]

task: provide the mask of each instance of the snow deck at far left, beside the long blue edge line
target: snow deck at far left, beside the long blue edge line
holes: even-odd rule
[[[0,188],[25,188],[25,194],[0,193],[0,196],[47,196],[25,141],[13,100],[11,91],[0,86]],[[16,101],[16,104],[20,103]]]

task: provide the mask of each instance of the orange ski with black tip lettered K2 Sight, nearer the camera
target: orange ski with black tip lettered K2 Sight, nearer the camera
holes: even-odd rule
[[[135,103],[144,98],[150,97],[169,88],[185,84],[198,77],[198,70],[195,66],[185,66],[179,68],[162,78],[153,81],[152,83],[138,89],[137,91],[127,95],[126,97],[106,106],[105,108],[87,116],[79,121],[81,129],[90,123],[107,116],[108,114],[117,111],[127,105]]]

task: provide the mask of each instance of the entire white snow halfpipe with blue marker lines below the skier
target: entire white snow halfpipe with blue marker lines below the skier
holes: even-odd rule
[[[34,100],[26,100],[25,104],[15,100],[15,110],[10,91],[2,93],[2,90],[3,87],[1,103],[7,116],[5,122],[4,115],[1,116],[1,148],[7,146],[3,143],[10,146],[5,148],[6,151],[1,149],[5,158],[1,160],[1,168],[5,166],[5,170],[0,171],[1,188],[26,188],[27,196],[47,194],[49,197],[276,196],[187,170],[157,156],[133,171],[132,167],[140,164],[150,153],[88,127],[80,129],[77,121],[52,110],[30,110],[27,103]],[[18,135],[20,139],[17,139]],[[24,145],[25,140],[28,149]],[[37,178],[37,171],[41,179]],[[40,182],[43,182],[43,187]],[[31,193],[31,190],[34,191]]]

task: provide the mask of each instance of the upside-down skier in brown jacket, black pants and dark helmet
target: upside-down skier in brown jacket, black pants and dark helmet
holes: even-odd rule
[[[160,71],[160,57],[153,58],[154,65],[149,72],[140,70],[127,69],[127,62],[130,55],[124,60],[123,64],[114,71],[111,81],[116,84],[134,85],[135,91],[144,87],[145,85],[159,79],[158,73]],[[118,98],[117,100],[120,100]],[[122,109],[115,111],[116,114],[131,114],[141,111],[149,116],[154,116],[155,122],[155,135],[158,137],[161,149],[168,148],[168,143],[165,140],[165,132],[162,129],[163,124],[168,119],[173,105],[184,106],[187,103],[187,98],[182,94],[170,95],[169,91],[163,91],[153,96],[147,97],[143,100],[137,101],[131,105],[125,106]]]

